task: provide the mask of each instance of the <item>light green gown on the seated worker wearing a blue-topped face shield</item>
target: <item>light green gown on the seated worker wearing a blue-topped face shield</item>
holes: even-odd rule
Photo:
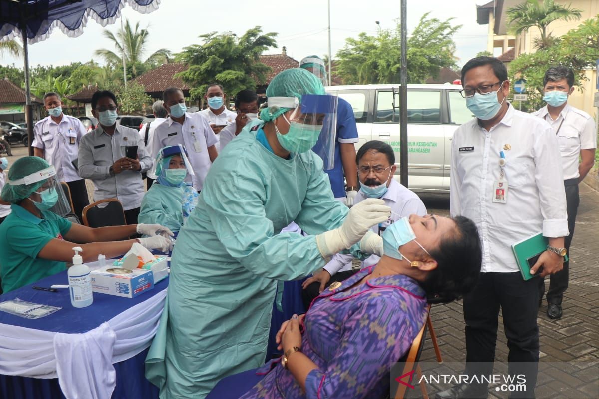
[[[160,224],[172,232],[183,226],[183,187],[168,187],[155,182],[141,202],[139,223]]]

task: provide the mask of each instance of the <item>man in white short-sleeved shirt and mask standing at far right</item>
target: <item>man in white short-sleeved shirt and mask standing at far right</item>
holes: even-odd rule
[[[543,100],[546,106],[533,112],[551,125],[551,130],[558,138],[559,155],[564,172],[565,201],[568,213],[568,236],[564,248],[570,257],[570,243],[574,235],[574,224],[580,198],[578,183],[585,178],[595,163],[597,133],[595,121],[585,111],[568,105],[568,96],[574,91],[574,72],[565,66],[552,66],[543,77]],[[578,158],[580,156],[580,163]],[[547,316],[559,319],[562,316],[562,295],[568,288],[568,263],[564,269],[550,276],[547,291]],[[543,300],[545,284],[539,279],[539,304]]]

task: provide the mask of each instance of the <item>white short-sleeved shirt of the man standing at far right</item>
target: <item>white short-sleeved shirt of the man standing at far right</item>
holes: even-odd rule
[[[552,132],[557,133],[564,179],[578,178],[580,150],[597,148],[595,121],[591,115],[568,104],[559,112],[556,120],[549,115],[547,106],[533,112],[533,115],[546,120],[551,125]]]

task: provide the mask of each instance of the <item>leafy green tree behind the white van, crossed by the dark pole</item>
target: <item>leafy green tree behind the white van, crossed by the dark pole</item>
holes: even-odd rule
[[[452,26],[452,19],[420,18],[418,26],[407,39],[407,75],[409,83],[423,83],[437,77],[441,68],[456,66],[453,35],[461,25]],[[337,74],[346,84],[398,83],[401,68],[401,26],[380,29],[377,36],[360,33],[358,39],[346,39],[337,52]]]

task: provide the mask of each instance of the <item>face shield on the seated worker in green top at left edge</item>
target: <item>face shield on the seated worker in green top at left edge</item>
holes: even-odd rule
[[[60,185],[60,182],[56,177],[56,169],[54,166],[38,170],[37,172],[31,173],[31,175],[27,175],[20,179],[9,180],[8,184],[29,185],[37,182],[42,182],[41,186],[29,194],[28,197],[34,203],[36,208],[43,212],[53,212],[60,217],[71,213],[71,204],[68,199],[66,199],[62,185]]]

